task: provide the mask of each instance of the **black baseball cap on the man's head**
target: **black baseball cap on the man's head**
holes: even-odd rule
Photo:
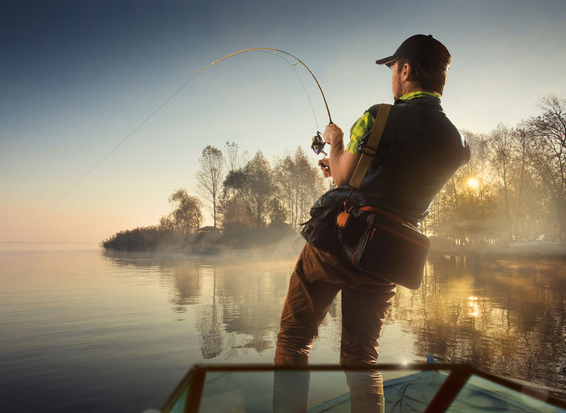
[[[451,56],[448,49],[431,34],[416,34],[409,37],[395,51],[392,56],[376,60],[378,65],[389,65],[395,60],[403,57],[417,61],[425,66],[434,66],[447,70],[450,66]]]

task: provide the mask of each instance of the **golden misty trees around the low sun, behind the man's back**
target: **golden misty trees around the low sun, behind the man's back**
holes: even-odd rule
[[[550,95],[539,106],[515,127],[464,133],[472,159],[436,198],[428,233],[478,248],[565,240],[566,100]]]

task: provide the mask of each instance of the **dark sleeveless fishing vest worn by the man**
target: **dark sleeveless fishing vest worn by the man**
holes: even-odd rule
[[[378,107],[368,109],[374,119]],[[469,157],[470,148],[442,111],[440,99],[397,100],[359,189],[345,185],[322,195],[311,208],[311,219],[301,234],[313,246],[340,255],[336,207],[346,199],[390,211],[419,225],[434,197]]]

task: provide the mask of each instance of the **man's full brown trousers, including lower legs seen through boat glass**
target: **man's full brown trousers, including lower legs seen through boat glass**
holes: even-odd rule
[[[275,365],[305,366],[312,342],[332,301],[342,291],[340,364],[374,366],[378,339],[396,285],[380,281],[326,251],[306,244],[289,282],[277,336]],[[309,375],[276,372],[274,412],[307,410]],[[378,371],[346,372],[352,412],[383,412],[383,380]]]

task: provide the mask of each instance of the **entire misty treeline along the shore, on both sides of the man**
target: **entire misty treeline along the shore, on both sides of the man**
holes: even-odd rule
[[[423,223],[428,235],[467,248],[564,241],[566,100],[547,96],[540,108],[540,115],[515,127],[463,132],[472,159],[435,199]],[[316,198],[333,186],[301,148],[270,162],[261,151],[250,159],[230,142],[223,150],[203,149],[196,184],[198,196],[184,189],[173,192],[174,209],[159,225],[115,234],[102,245],[155,250],[159,245],[206,249],[223,243],[247,246],[253,239],[269,242],[296,233]],[[201,228],[205,208],[213,225]]]

